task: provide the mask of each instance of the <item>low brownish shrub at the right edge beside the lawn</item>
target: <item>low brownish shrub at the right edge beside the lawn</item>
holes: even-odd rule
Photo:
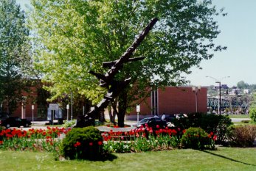
[[[231,126],[227,135],[232,146],[252,147],[256,138],[256,125]]]

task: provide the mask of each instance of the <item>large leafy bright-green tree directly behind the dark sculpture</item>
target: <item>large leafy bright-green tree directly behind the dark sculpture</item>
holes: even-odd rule
[[[32,7],[30,26],[39,45],[35,60],[51,83],[46,88],[52,98],[72,90],[94,102],[105,90],[89,70],[105,73],[102,62],[118,59],[151,18],[159,18],[134,53],[146,58],[124,65],[116,76],[131,76],[116,99],[119,125],[131,102],[148,95],[146,87],[184,84],[182,73],[224,48],[213,43],[220,33],[213,19],[219,13],[210,0],[32,0]]]

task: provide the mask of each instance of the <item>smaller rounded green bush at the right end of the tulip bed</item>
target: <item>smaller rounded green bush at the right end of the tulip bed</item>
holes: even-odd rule
[[[190,127],[181,137],[182,148],[193,148],[197,150],[215,149],[212,135],[208,135],[202,128]]]

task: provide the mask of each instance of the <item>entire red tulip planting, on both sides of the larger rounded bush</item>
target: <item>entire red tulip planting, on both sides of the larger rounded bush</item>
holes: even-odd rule
[[[46,150],[60,156],[62,139],[60,135],[67,134],[70,130],[58,127],[43,129],[4,129],[0,131],[0,149],[3,150]],[[149,150],[171,150],[183,148],[181,137],[186,130],[180,128],[134,128],[131,131],[103,132],[101,134],[104,153],[136,153]],[[204,137],[207,137],[204,136]],[[211,132],[208,135],[211,147],[214,147],[216,136]],[[190,139],[190,136],[187,137]],[[187,140],[186,140],[187,141]],[[75,141],[75,148],[80,148],[80,141]],[[209,146],[209,145],[208,145]],[[89,145],[90,148],[90,145]],[[213,149],[213,148],[212,148]]]

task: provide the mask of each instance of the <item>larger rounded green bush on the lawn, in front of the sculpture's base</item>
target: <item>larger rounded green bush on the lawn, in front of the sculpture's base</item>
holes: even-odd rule
[[[97,128],[72,128],[60,145],[66,159],[97,160],[103,157],[103,137]]]

